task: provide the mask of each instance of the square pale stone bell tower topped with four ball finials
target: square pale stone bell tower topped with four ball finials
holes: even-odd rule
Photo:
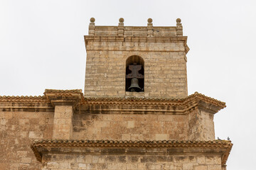
[[[91,18],[87,51],[85,96],[185,98],[188,96],[186,53],[189,48],[183,36],[181,19],[176,26],[95,26]],[[141,65],[140,93],[129,92],[129,65]],[[131,78],[132,79],[132,78]]]

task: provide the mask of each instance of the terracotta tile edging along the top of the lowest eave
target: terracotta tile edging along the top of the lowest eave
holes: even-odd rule
[[[233,144],[230,140],[211,140],[211,141],[176,141],[176,140],[154,140],[154,141],[132,141],[132,140],[36,140],[31,145],[33,153],[36,155],[36,159],[42,161],[42,151],[50,148],[214,148],[214,149],[224,149],[222,155],[222,164],[225,165],[230,150]],[[43,149],[45,148],[45,149]]]

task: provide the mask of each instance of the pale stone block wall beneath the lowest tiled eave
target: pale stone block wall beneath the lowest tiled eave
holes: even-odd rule
[[[131,148],[136,152],[136,149]],[[171,154],[166,149],[147,149],[147,154],[102,154],[97,149],[89,154],[47,154],[48,162],[43,170],[60,169],[173,169],[173,170],[221,170],[218,154]],[[123,149],[119,149],[123,150]],[[157,153],[163,152],[163,153]],[[91,152],[94,152],[91,150]],[[129,152],[129,151],[128,151]],[[167,152],[167,153],[166,153]]]

